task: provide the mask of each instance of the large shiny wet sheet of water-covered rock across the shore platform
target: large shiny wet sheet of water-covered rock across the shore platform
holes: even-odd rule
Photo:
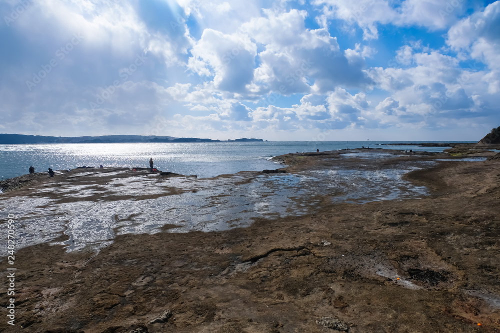
[[[218,231],[247,226],[257,218],[304,215],[326,198],[363,203],[427,194],[402,175],[430,162],[408,165],[404,156],[378,151],[335,154],[337,158],[324,160],[327,169],[311,166],[271,176],[240,172],[194,179],[146,168],[57,171],[56,177],[41,175],[14,196],[0,197],[0,209],[21,216],[18,248],[55,241],[62,233],[69,252],[105,247],[119,234],[160,232],[164,224],[174,226],[171,232]]]

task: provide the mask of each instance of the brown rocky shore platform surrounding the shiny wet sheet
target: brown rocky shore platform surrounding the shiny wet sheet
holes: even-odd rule
[[[403,187],[393,200],[337,200],[345,194],[332,187],[315,197],[304,214],[254,218],[245,227],[176,233],[171,232],[176,221],[157,221],[160,232],[117,233],[98,251],[68,251],[62,244],[68,237],[60,232],[55,242],[16,250],[15,326],[2,316],[0,331],[500,332],[500,159],[494,155],[476,152],[464,159],[378,149],[287,154],[276,158],[287,165],[286,174],[246,172],[238,182],[288,181],[276,177],[298,175],[306,188],[313,175],[327,174],[329,178],[321,178],[327,188],[326,180],[346,174],[341,170],[355,170],[357,178],[352,179],[372,177],[369,183],[387,178],[384,170],[391,168],[412,171],[393,177],[401,178],[394,184]],[[127,195],[147,202],[166,195],[99,190],[118,184],[117,177],[139,179],[129,170],[95,169],[91,172],[102,176],[70,178],[84,172],[89,171],[53,178],[26,175],[22,177],[31,177],[27,181],[3,184],[2,230],[8,213],[16,215],[18,228],[27,219],[7,211],[5,203],[18,198],[81,204],[118,202]],[[162,189],[166,181],[182,179],[141,172],[156,177],[150,186]],[[233,179],[226,175],[206,182]],[[84,198],[76,192],[64,192],[64,197],[54,193],[67,183],[95,189]],[[425,187],[426,193],[405,197],[407,184]],[[345,188],[357,188],[349,186]],[[175,191],[188,191],[168,189],[167,199]],[[52,214],[56,218],[61,213]],[[2,265],[5,269],[5,259]],[[4,269],[0,279],[6,282]],[[2,307],[9,298],[3,288]]]

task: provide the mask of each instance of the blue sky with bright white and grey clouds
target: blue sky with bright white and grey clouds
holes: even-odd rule
[[[479,140],[500,1],[0,0],[0,133]]]

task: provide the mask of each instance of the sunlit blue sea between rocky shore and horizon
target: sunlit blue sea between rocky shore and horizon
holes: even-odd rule
[[[281,165],[273,156],[295,153],[354,149],[361,147],[442,152],[446,147],[419,147],[411,141],[291,141],[291,142],[189,142],[189,143],[76,143],[1,144],[0,179],[35,172],[74,169],[81,166],[149,167],[149,159],[161,171],[210,178],[238,171],[262,171]],[[436,141],[428,141],[436,142]],[[445,141],[457,142],[457,141]],[[467,142],[467,141],[460,141]],[[474,143],[475,141],[468,141]],[[414,143],[410,146],[382,145]]]

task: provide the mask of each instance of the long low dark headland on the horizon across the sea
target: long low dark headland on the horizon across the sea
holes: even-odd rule
[[[263,142],[262,139],[212,140],[199,138],[176,138],[157,135],[101,135],[101,136],[43,136],[24,134],[0,134],[0,144],[21,143],[140,143],[140,142]],[[267,140],[265,140],[267,141]]]

